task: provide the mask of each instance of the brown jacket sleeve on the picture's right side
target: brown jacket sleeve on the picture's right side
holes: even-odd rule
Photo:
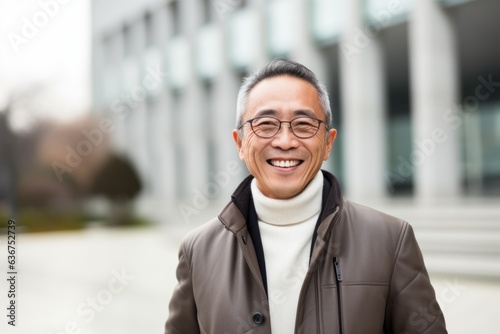
[[[397,245],[385,333],[444,334],[444,316],[412,227],[404,223]]]

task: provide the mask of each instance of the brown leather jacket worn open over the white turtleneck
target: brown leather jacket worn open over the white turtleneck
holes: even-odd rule
[[[343,200],[336,178],[323,174],[295,333],[447,333],[411,226]],[[184,240],[166,334],[271,333],[250,182]]]

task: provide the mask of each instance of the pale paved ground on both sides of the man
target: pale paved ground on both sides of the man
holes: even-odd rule
[[[17,326],[2,333],[163,333],[184,230],[88,229],[18,236]],[[5,254],[6,238],[0,235]],[[1,268],[7,272],[1,256]],[[0,284],[6,313],[7,285]],[[500,333],[500,283],[433,277],[449,333]]]

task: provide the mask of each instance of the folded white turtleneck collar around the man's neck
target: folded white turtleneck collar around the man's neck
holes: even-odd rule
[[[261,222],[271,225],[294,225],[318,215],[321,211],[323,173],[319,171],[306,188],[290,199],[266,197],[257,187],[256,180],[251,183],[255,211]]]

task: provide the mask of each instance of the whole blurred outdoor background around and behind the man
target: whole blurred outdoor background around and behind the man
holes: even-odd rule
[[[328,87],[324,169],[414,226],[450,333],[500,333],[499,18],[498,0],[0,0],[2,326],[162,332],[180,241],[248,174],[239,85],[286,58]]]

